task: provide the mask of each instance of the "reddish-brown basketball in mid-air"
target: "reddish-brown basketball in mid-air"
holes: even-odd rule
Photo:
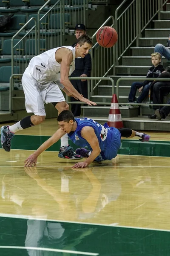
[[[104,26],[96,34],[97,43],[105,48],[112,47],[117,42],[117,32],[110,26]]]

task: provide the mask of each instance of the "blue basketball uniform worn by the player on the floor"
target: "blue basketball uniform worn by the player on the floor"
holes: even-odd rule
[[[113,151],[116,151],[120,147],[120,132],[118,129],[114,127],[108,127],[108,125],[101,125],[98,122],[94,121],[93,119],[90,119],[88,117],[84,118],[75,118],[75,122],[77,122],[77,128],[75,131],[71,131],[68,134],[68,137],[72,140],[72,142],[80,147],[87,146],[88,149],[91,150],[91,145],[85,140],[82,135],[81,131],[82,128],[85,126],[90,126],[94,128],[94,132],[96,134],[96,137],[99,141],[99,147],[101,149],[102,154],[102,160],[110,160],[113,157],[115,157],[115,153],[113,154]],[[112,148],[110,148],[112,146]],[[106,156],[105,151],[108,150],[112,151],[111,156]]]

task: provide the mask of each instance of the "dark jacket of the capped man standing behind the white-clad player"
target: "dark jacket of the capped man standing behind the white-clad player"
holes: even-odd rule
[[[74,47],[75,44],[72,45]],[[81,70],[81,74],[86,74],[87,76],[91,75],[91,55],[88,53],[84,58],[75,58],[75,70]]]

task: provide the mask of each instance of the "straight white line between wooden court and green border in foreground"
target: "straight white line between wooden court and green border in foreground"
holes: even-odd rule
[[[98,223],[91,223],[91,222],[80,222],[80,221],[61,221],[61,220],[52,220],[52,219],[43,219],[43,218],[33,218],[30,215],[18,215],[18,214],[8,214],[8,213],[0,213],[0,217],[6,218],[22,218],[22,219],[29,219],[29,220],[39,220],[39,221],[53,221],[59,223],[74,223],[74,224],[85,224],[85,225],[94,225],[94,226],[105,226],[105,227],[122,227],[122,228],[133,228],[133,229],[141,229],[141,230],[154,230],[154,231],[164,231],[170,232],[170,230],[164,229],[156,229],[150,227],[132,227],[132,226],[121,226],[118,223],[112,224],[98,224]]]

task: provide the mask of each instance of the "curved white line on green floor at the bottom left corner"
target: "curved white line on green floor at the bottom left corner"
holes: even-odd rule
[[[80,251],[51,249],[51,248],[43,248],[43,247],[23,247],[23,246],[3,246],[3,245],[0,245],[0,248],[4,248],[4,249],[24,249],[24,250],[42,250],[42,251],[51,251],[51,252],[58,252],[58,253],[73,253],[73,254],[81,254],[81,255],[89,255],[89,256],[99,255],[99,253],[86,253],[86,252],[80,252]]]

